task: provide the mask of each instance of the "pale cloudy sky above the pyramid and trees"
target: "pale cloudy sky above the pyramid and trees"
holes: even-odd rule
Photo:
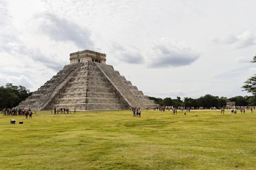
[[[145,95],[245,96],[255,0],[0,0],[0,85],[36,91],[97,48]]]

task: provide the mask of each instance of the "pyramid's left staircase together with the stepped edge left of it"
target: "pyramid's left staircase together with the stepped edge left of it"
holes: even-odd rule
[[[45,110],[49,108],[58,91],[63,88],[73,74],[81,67],[82,63],[73,65],[65,65],[63,70],[59,71],[57,75],[47,81],[44,85],[33,92],[26,100],[20,102],[17,108],[31,108],[32,110]]]

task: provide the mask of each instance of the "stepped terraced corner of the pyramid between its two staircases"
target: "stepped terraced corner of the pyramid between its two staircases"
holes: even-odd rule
[[[77,111],[128,109],[128,103],[99,70],[95,62],[86,62],[61,89],[53,107]]]

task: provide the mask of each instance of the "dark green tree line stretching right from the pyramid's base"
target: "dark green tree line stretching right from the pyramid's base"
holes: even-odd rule
[[[183,106],[183,107],[204,107],[204,108],[211,108],[218,106],[223,107],[227,105],[227,101],[236,102],[237,106],[248,106],[248,105],[256,105],[256,103],[251,103],[250,99],[253,96],[235,96],[231,98],[227,97],[219,97],[219,96],[212,96],[207,94],[205,96],[201,96],[198,99],[192,99],[191,97],[185,97],[183,100],[177,96],[176,99],[171,99],[171,97],[166,97],[165,99],[150,97],[149,99],[154,100],[156,104],[160,106],[174,106],[175,108]]]

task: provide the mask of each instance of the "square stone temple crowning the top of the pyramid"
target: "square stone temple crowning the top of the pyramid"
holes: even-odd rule
[[[106,64],[106,54],[90,50],[70,53],[70,64],[88,61]]]

